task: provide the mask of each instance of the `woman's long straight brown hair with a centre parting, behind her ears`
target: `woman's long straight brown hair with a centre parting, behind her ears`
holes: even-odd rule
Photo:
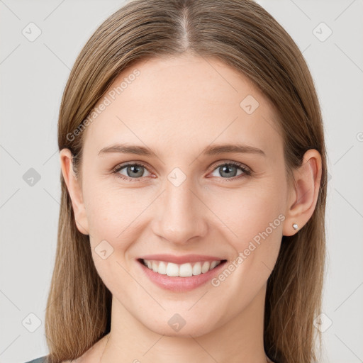
[[[59,149],[72,150],[79,170],[84,121],[118,74],[138,60],[186,51],[237,69],[272,102],[289,175],[306,150],[320,152],[315,211],[295,235],[282,238],[264,312],[264,349],[271,359],[316,362],[314,342],[318,337],[321,346],[321,337],[313,320],[320,313],[325,264],[323,123],[300,50],[261,6],[251,0],[134,0],[113,13],[84,45],[69,75],[59,113]],[[57,252],[45,315],[51,362],[76,359],[111,328],[111,292],[94,267],[89,236],[77,230],[62,173],[60,179]]]

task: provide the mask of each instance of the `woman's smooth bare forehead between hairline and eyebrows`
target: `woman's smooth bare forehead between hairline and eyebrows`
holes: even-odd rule
[[[88,126],[84,143],[94,152],[113,143],[169,155],[186,147],[195,155],[212,143],[281,151],[269,100],[243,74],[210,58],[137,62],[119,74],[97,108],[103,109]]]

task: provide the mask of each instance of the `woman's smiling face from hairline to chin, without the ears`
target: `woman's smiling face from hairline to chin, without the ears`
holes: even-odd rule
[[[76,213],[96,269],[150,330],[211,332],[260,296],[279,253],[289,186],[274,109],[242,74],[191,55],[138,62],[112,90],[84,131]],[[167,274],[142,257],[166,262]],[[168,260],[196,275],[169,277]],[[225,262],[206,272],[205,260]]]

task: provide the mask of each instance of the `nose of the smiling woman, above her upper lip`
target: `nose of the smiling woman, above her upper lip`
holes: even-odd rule
[[[152,230],[160,238],[174,244],[183,245],[192,238],[206,235],[208,208],[201,196],[191,190],[189,178],[179,186],[167,180],[164,192],[155,203],[155,217]]]

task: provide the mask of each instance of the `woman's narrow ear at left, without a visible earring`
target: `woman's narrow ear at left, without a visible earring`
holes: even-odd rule
[[[77,228],[80,233],[84,235],[89,235],[89,225],[86,218],[86,208],[84,207],[82,186],[74,173],[72,166],[72,152],[64,148],[60,150],[60,165],[62,167],[63,178],[65,179],[65,184],[67,184],[67,189],[69,196],[72,200],[72,206],[74,211],[74,218]]]

